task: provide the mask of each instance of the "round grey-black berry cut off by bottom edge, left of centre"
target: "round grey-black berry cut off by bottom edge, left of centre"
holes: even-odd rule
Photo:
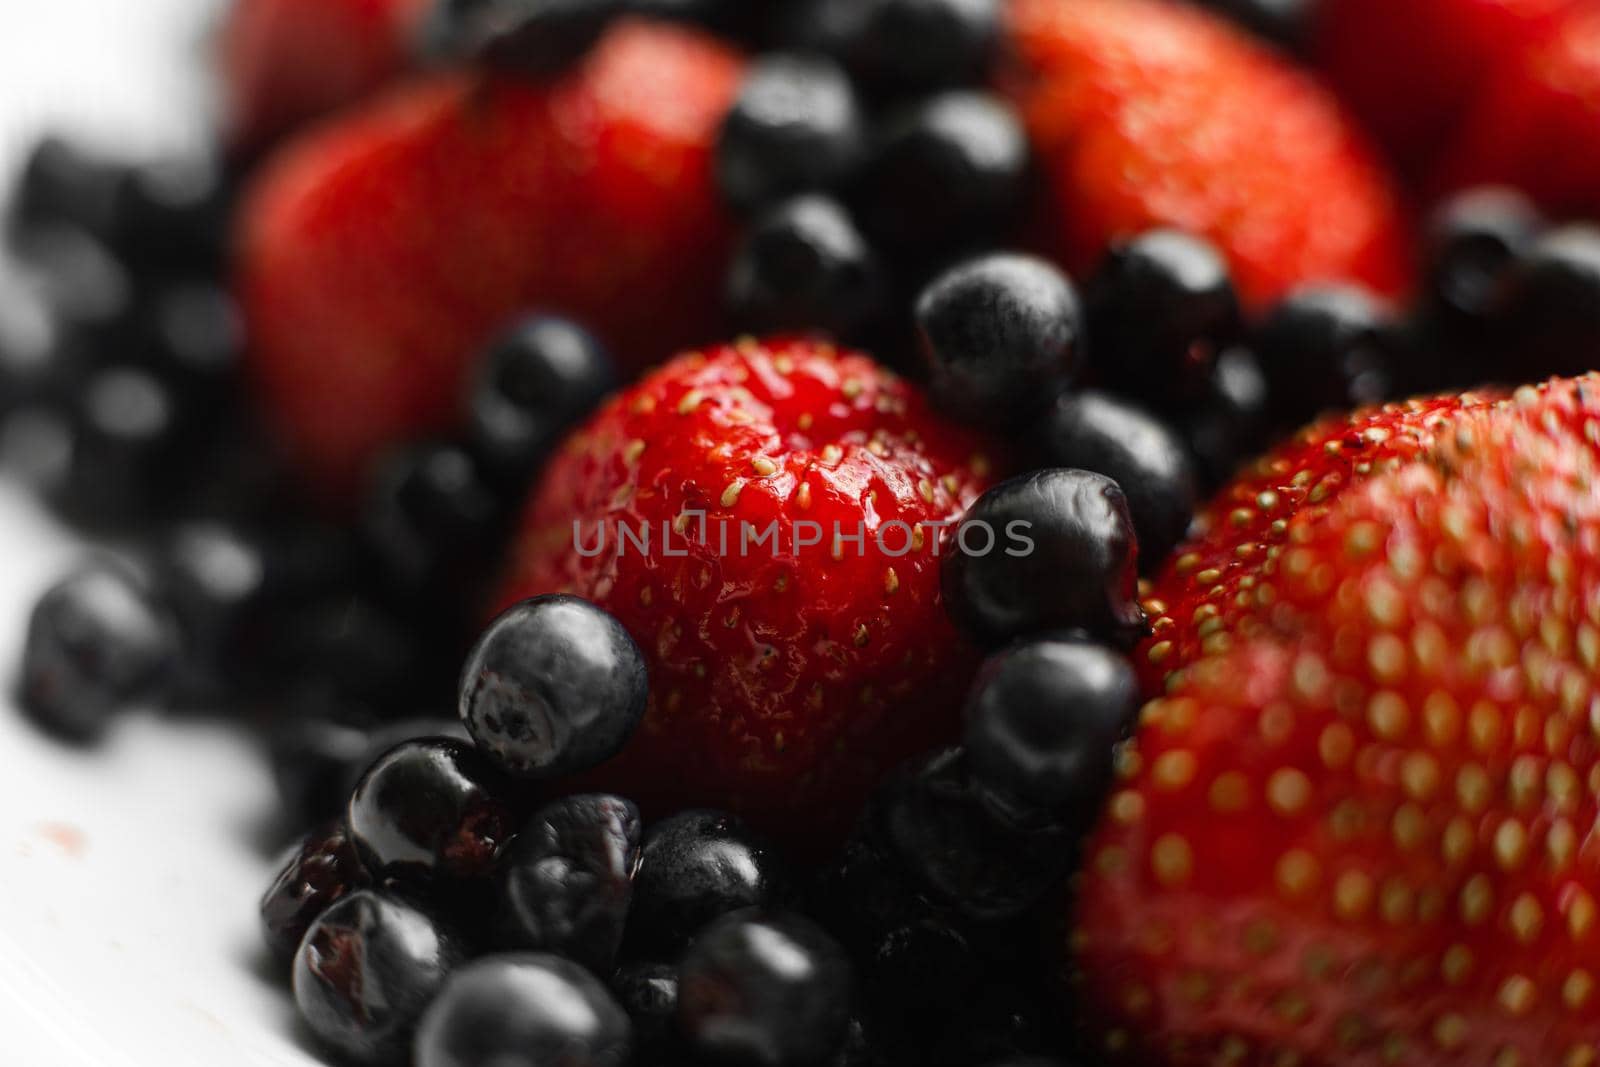
[[[456,971],[422,1016],[416,1067],[627,1067],[632,1027],[570,960],[512,953]]]

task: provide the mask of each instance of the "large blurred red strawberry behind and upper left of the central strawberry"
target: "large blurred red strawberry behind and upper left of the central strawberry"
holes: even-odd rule
[[[640,366],[709,338],[731,224],[710,155],[741,61],[613,29],[550,88],[443,75],[294,144],[245,208],[251,371],[307,475],[341,490],[450,426],[478,349],[552,310]]]

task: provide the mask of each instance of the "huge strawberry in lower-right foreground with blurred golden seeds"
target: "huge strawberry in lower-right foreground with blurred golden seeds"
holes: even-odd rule
[[[1600,376],[1438,422],[1146,707],[1072,934],[1114,1062],[1600,1057]]]

